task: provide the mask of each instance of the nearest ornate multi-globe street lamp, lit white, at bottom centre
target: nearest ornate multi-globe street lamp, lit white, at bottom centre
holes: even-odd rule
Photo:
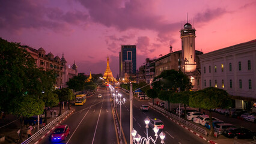
[[[146,124],[146,129],[147,129],[147,137],[141,137],[140,135],[139,135],[139,133],[137,133],[137,131],[136,130],[132,130],[132,136],[133,136],[133,142],[135,143],[135,144],[149,144],[150,143],[150,140],[151,140],[151,142],[153,142],[154,144],[156,144],[156,140],[157,140],[157,138],[158,138],[158,135],[157,135],[157,132],[159,131],[159,128],[157,127],[157,126],[155,126],[154,128],[153,128],[153,130],[154,130],[154,136],[156,137],[156,139],[153,139],[153,137],[148,137],[148,124],[149,124],[149,122],[150,122],[150,119],[147,117],[147,118],[145,118],[145,124]],[[160,139],[161,139],[161,143],[165,143],[164,141],[163,141],[163,139],[165,139],[165,133],[163,133],[163,131],[159,134],[159,136],[160,136]]]

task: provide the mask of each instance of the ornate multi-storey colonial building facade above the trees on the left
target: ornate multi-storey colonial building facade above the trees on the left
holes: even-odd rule
[[[62,55],[60,59],[59,56],[54,56],[51,52],[46,54],[43,48],[39,48],[38,50],[28,47],[22,46],[26,49],[32,58],[35,59],[35,64],[38,68],[43,68],[43,70],[55,70],[57,73],[56,77],[56,88],[65,88],[67,87],[66,83],[74,76],[78,76],[78,70],[75,62],[73,63],[72,67],[70,68],[67,65],[67,61]]]

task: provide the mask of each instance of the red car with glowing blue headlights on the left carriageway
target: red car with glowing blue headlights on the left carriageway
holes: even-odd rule
[[[61,142],[62,140],[66,140],[67,136],[70,134],[69,125],[59,125],[55,128],[50,136],[51,142]]]

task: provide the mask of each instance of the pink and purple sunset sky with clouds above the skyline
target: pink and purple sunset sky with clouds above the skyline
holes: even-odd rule
[[[256,39],[255,0],[0,0],[0,37],[76,62],[79,73],[118,74],[121,44],[145,58],[181,50],[180,29],[197,29],[203,53]]]

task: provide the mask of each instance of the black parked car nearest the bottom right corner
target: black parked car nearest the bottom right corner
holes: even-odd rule
[[[230,127],[223,131],[223,135],[234,139],[256,139],[256,133],[243,127]]]

